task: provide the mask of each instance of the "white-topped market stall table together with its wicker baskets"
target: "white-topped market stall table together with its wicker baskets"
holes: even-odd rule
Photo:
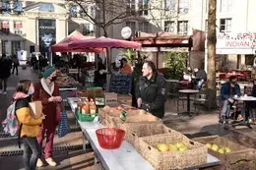
[[[68,98],[68,102],[77,119],[78,107],[81,106],[81,101],[82,100],[79,97]],[[120,118],[120,113],[123,110],[127,111],[126,116],[124,116],[125,121]],[[104,121],[107,121],[107,123]],[[172,169],[198,169],[219,165],[221,163],[218,158],[207,153],[207,147],[205,145],[198,142],[192,142],[182,134],[165,127],[161,123],[160,119],[150,113],[137,110],[131,106],[120,105],[117,103],[115,107],[101,108],[98,113],[96,113],[93,121],[85,122],[78,119],[78,124],[80,125],[86,140],[91,143],[96,153],[96,160],[100,162],[103,169],[134,170],[140,168],[148,170],[160,169],[163,164],[164,166],[169,166]],[[141,129],[145,126],[146,129]],[[118,148],[102,148],[102,143],[98,140],[97,132],[105,127],[115,127],[125,131],[125,140],[123,142],[120,141],[121,145]],[[135,134],[135,136],[133,134]],[[111,141],[109,137],[107,137],[108,142]],[[189,149],[184,151],[175,151],[175,154],[171,151],[162,153],[161,151],[158,151],[156,147],[152,147],[151,150],[141,149],[143,147],[148,148],[147,144],[145,145],[142,143],[147,142],[149,139],[150,142],[153,142],[153,139],[156,139],[157,141],[158,139],[168,139],[172,141],[171,139],[173,138],[186,143]],[[147,143],[149,144],[150,142]],[[142,150],[148,150],[147,154]],[[188,153],[188,155],[185,156],[185,153]],[[160,157],[162,154],[167,155],[165,160],[161,160]],[[155,157],[154,159],[157,160],[157,163],[154,163],[153,159],[146,155]],[[170,161],[174,158],[173,156],[175,156],[175,160]]]

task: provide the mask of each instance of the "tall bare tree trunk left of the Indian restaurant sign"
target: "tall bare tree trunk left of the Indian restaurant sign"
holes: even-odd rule
[[[216,2],[217,0],[209,0],[208,12],[208,34],[207,34],[207,49],[208,49],[208,73],[207,85],[210,89],[210,106],[215,108],[216,102]]]

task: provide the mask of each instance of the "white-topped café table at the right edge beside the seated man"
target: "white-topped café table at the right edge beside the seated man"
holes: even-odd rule
[[[247,123],[246,123],[246,102],[248,101],[256,101],[256,97],[253,97],[253,96],[247,96],[247,95],[244,95],[244,96],[239,96],[239,97],[233,97],[234,100],[236,101],[243,101],[243,110],[242,110],[242,114],[243,114],[243,121],[241,122],[237,122],[237,121],[234,121],[232,123],[232,126],[248,126],[249,128],[252,129],[252,127],[250,126],[249,124],[249,120],[247,120]],[[248,119],[248,118],[247,118]]]

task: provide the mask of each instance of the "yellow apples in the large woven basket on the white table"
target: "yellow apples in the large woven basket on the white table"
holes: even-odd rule
[[[160,152],[164,151],[185,151],[188,149],[184,142],[176,142],[175,144],[160,143],[156,147]]]

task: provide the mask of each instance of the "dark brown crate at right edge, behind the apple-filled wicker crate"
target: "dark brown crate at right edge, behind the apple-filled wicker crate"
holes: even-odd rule
[[[249,128],[232,129],[229,137],[234,142],[238,142],[246,147],[256,148],[256,130]],[[256,169],[256,168],[255,168]]]

